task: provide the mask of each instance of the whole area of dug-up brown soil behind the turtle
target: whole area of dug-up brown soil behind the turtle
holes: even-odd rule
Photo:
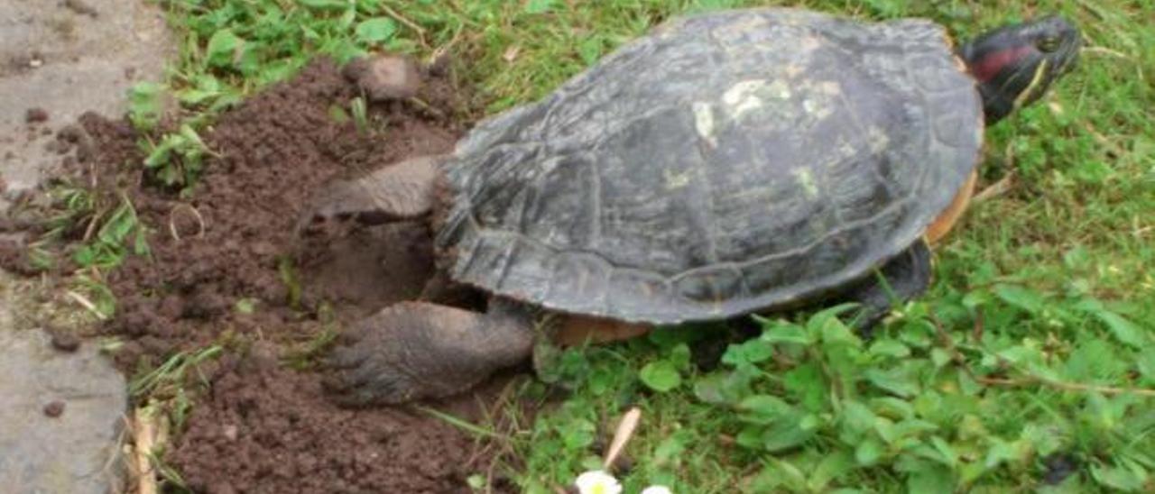
[[[202,369],[211,386],[165,456],[196,492],[469,492],[465,479],[494,463],[497,448],[441,419],[337,407],[320,375],[280,364],[334,329],[326,314],[340,325],[415,298],[433,269],[420,223],[359,229],[323,248],[295,234],[308,197],[331,178],[446,152],[463,132],[450,115],[464,98],[448,77],[425,82],[427,106],[371,104],[371,132],[335,111],[348,114],[358,96],[321,59],[229,111],[202,134],[214,155],[191,199],[143,173],[139,136],[124,120],[85,114],[79,137],[60,136],[77,148],[69,167],[126,193],[150,227],[150,256],[129,256],[107,279],[118,305],[104,330],[125,342],[118,365],[133,375],[178,351],[226,347]],[[497,389],[433,406],[478,419],[477,404]]]

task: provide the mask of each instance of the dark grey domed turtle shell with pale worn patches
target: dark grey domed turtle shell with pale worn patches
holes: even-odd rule
[[[678,323],[773,309],[915,242],[978,159],[945,30],[795,9],[671,21],[447,162],[450,275],[562,312]]]

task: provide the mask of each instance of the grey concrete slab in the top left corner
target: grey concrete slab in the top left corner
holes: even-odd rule
[[[51,133],[85,111],[119,115],[172,52],[163,13],[141,0],[0,0],[0,180],[35,187],[60,157]],[[30,127],[28,111],[49,120]],[[45,130],[47,129],[47,130]],[[7,209],[0,199],[0,211]]]

